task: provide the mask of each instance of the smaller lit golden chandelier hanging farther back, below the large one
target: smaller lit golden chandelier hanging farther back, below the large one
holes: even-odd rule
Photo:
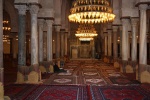
[[[92,24],[80,24],[75,34],[80,41],[90,41],[97,36],[96,30]]]

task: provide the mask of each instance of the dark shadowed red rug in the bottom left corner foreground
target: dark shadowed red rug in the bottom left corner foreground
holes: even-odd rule
[[[38,88],[38,85],[32,84],[10,84],[4,87],[5,96],[11,100],[22,100],[24,96]]]

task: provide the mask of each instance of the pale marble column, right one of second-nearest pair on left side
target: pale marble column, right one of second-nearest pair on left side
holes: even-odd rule
[[[46,20],[47,23],[47,61],[53,60],[53,49],[52,49],[52,20]]]

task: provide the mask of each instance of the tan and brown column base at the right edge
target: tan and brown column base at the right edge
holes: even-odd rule
[[[141,83],[150,83],[150,65],[139,64],[139,68],[137,71],[138,80]]]

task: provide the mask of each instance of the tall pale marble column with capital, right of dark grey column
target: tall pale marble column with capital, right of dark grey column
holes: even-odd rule
[[[31,65],[38,65],[38,25],[37,14],[39,11],[38,5],[31,5]]]

